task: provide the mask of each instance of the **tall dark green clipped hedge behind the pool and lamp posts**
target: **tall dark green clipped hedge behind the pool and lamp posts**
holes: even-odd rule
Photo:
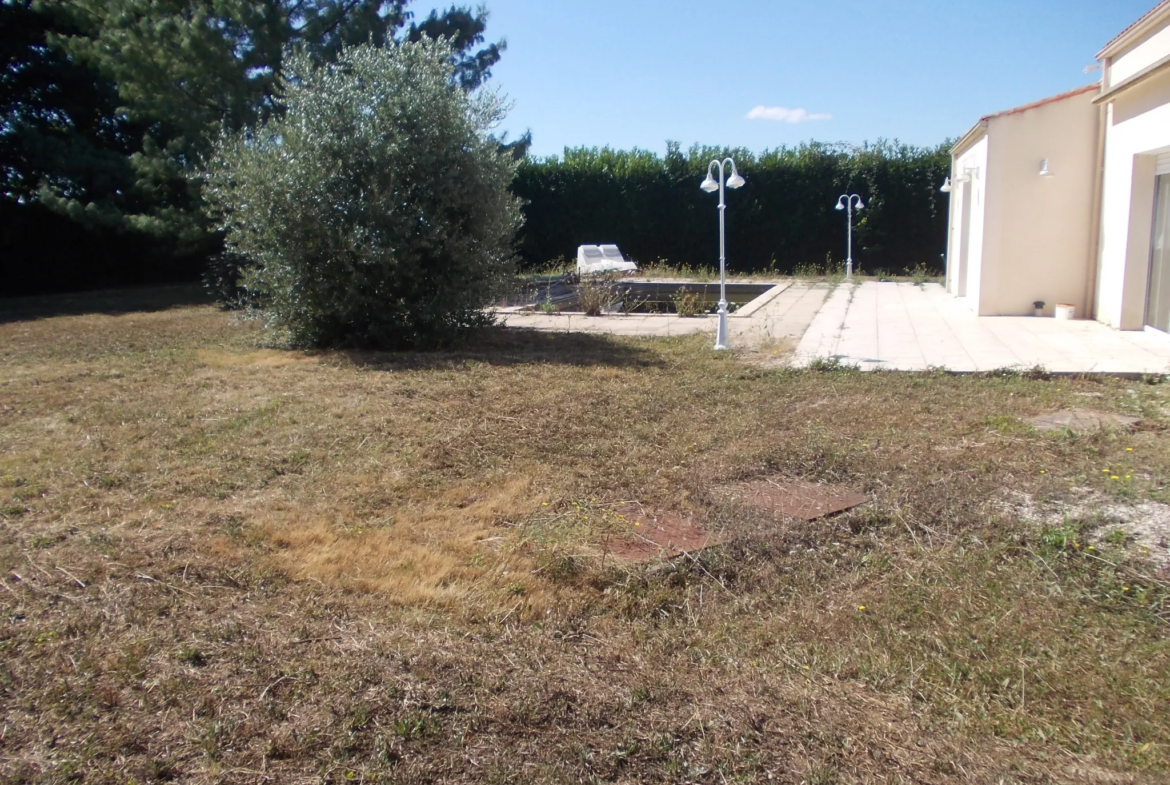
[[[853,260],[862,270],[942,269],[949,144],[914,147],[811,143],[753,154],[668,143],[645,150],[566,149],[529,158],[512,191],[526,204],[521,257],[538,267],[572,260],[581,243],[615,242],[640,263],[718,264],[717,194],[698,188],[713,158],[730,154],[746,185],[728,191],[728,268],[791,273],[845,259],[845,214],[837,198],[860,193]]]

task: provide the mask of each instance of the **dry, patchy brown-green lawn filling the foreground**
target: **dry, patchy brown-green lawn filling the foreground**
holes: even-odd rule
[[[1012,505],[1170,502],[1170,384],[307,353],[145,295],[0,314],[4,781],[1170,774],[1165,553]],[[1142,421],[1023,421],[1073,406]],[[721,490],[777,475],[870,501]],[[622,562],[626,502],[723,544]]]

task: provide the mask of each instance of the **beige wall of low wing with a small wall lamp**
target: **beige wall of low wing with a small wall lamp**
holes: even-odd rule
[[[1083,315],[1093,262],[1099,110],[1081,92],[989,119],[989,199],[978,312],[1025,316],[1071,303]],[[1040,177],[1048,159],[1051,177]]]

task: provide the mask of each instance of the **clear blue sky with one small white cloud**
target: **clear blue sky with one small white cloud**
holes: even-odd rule
[[[501,126],[532,152],[668,139],[936,145],[1095,82],[1156,0],[487,0]],[[415,13],[424,15],[426,6]],[[421,13],[420,13],[421,12]]]

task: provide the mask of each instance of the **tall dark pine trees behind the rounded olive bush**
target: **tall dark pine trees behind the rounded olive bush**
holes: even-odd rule
[[[446,35],[470,89],[503,49],[477,48],[486,12],[452,7],[414,23],[408,0],[0,2],[5,195],[151,234],[176,253],[218,247],[200,172],[221,131],[274,111],[285,51],[325,63],[349,44]]]

